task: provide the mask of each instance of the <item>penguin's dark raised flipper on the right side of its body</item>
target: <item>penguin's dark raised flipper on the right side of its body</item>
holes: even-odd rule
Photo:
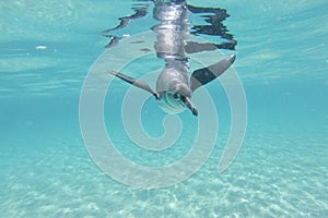
[[[234,63],[236,55],[233,53],[218,63],[194,71],[190,80],[191,90],[194,92],[198,87],[206,85],[219,77]]]

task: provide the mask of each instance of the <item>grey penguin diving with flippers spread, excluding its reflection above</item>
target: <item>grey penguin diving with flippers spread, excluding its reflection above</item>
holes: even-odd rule
[[[166,68],[157,77],[156,90],[153,90],[144,81],[113,70],[108,70],[108,72],[133,86],[151,93],[156,98],[159,106],[169,114],[179,113],[189,108],[194,116],[198,116],[198,110],[191,102],[192,93],[198,87],[210,83],[224,73],[234,63],[235,59],[236,56],[231,55],[218,63],[194,71],[191,75],[185,71],[179,72],[178,68],[174,65],[166,64]]]

